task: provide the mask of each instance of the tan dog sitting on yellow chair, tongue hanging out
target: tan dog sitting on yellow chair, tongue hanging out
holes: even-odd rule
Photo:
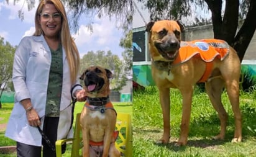
[[[121,156],[115,147],[117,114],[109,101],[110,78],[111,71],[100,66],[89,67],[80,77],[85,83],[87,95],[80,118],[84,157]]]

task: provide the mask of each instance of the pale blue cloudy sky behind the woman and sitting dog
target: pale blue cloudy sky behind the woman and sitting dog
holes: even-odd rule
[[[24,2],[25,0],[21,0],[14,5],[14,0],[9,0],[8,5],[6,0],[0,0],[0,36],[12,46],[19,45],[22,37],[32,35],[35,30],[34,16],[39,0],[35,1],[35,7],[31,11],[28,11],[27,4]],[[19,19],[18,11],[20,9],[24,11],[24,20]],[[93,32],[86,27],[90,19],[84,15],[80,18],[79,30],[72,33],[80,52],[80,58],[89,51],[96,52],[97,50],[105,52],[111,50],[112,54],[122,58],[121,54],[124,48],[119,47],[119,40],[123,36],[123,32],[121,29],[117,29],[116,20],[114,18],[110,20],[106,16],[101,19],[98,17],[91,19],[93,19]]]

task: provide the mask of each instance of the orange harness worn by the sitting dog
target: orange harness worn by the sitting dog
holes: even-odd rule
[[[113,104],[109,101],[107,102],[107,104],[105,105],[90,105],[87,101],[85,103],[85,107],[87,107],[88,109],[90,110],[99,110],[101,112],[101,114],[104,114],[105,110],[107,109],[111,109],[111,110],[114,110],[114,112],[116,112],[116,110],[114,109],[114,106]],[[116,113],[117,114],[117,113]],[[117,137],[119,135],[119,131],[118,130],[115,130],[113,132],[113,137],[116,141]],[[99,141],[99,142],[96,142],[96,141],[89,141],[89,145],[91,146],[103,146],[104,145],[104,141]]]

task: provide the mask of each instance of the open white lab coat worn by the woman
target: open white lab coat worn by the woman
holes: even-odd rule
[[[63,86],[60,101],[60,120],[58,123],[57,139],[73,136],[71,125],[71,87],[70,70],[63,51]],[[47,86],[51,65],[50,48],[43,35],[22,38],[14,56],[12,81],[15,88],[15,102],[9,122],[6,128],[6,137],[27,145],[41,146],[42,136],[37,127],[31,127],[27,121],[25,109],[20,103],[23,99],[30,98],[32,105],[37,110],[39,117],[45,115],[45,104],[47,99]],[[78,78],[78,76],[77,76]],[[76,84],[79,84],[77,79]],[[69,86],[70,84],[70,86]],[[76,86],[72,91],[82,89]]]

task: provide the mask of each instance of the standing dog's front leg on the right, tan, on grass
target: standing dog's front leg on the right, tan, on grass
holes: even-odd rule
[[[190,115],[191,115],[191,104],[193,87],[186,87],[185,89],[180,89],[182,94],[182,119],[180,125],[180,138],[175,144],[176,146],[186,145],[188,141],[188,132],[190,130]]]

